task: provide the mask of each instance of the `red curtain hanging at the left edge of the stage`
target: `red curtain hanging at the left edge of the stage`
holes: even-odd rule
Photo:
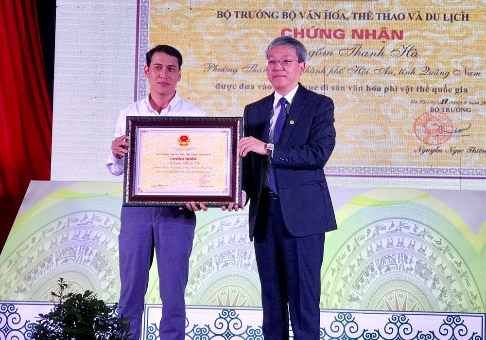
[[[29,182],[51,178],[52,105],[34,0],[0,1],[0,248]]]

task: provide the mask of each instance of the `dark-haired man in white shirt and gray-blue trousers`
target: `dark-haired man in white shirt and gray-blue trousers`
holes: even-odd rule
[[[123,173],[129,136],[125,134],[127,116],[207,116],[180,98],[175,91],[181,79],[182,55],[174,47],[158,45],[146,54],[145,77],[150,94],[122,108],[115,126],[115,139],[106,167],[113,175]],[[188,281],[189,256],[196,226],[194,211],[207,211],[201,204],[178,207],[122,207],[119,236],[121,293],[119,314],[131,324],[132,338],[138,340],[149,269],[154,250],[162,299],[160,339],[181,340],[185,336],[186,305],[184,291]]]

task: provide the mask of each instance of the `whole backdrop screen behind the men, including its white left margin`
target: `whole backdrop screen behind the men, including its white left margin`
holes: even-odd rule
[[[259,10],[277,13],[278,18],[241,18],[241,11],[249,15]],[[218,18],[218,11],[229,11],[232,16]],[[240,11],[240,18],[236,18],[236,11]],[[292,11],[294,20],[282,18],[283,12]],[[315,18],[314,12],[321,18]],[[372,17],[354,18],[353,13],[358,12],[371,13]],[[325,13],[331,17],[326,18]],[[338,19],[333,19],[336,13]],[[390,19],[378,18],[377,13],[389,13]],[[438,20],[427,20],[427,13],[437,14]],[[119,109],[133,102],[137,89],[146,87],[144,81],[137,83],[136,70],[144,62],[147,48],[167,43],[181,50],[184,64],[178,90],[183,98],[208,110],[211,116],[241,116],[244,105],[272,92],[264,72],[268,43],[285,28],[303,29],[304,34],[310,29],[311,36],[318,28],[344,32],[343,39],[298,36],[311,53],[319,49],[327,52],[314,54],[307,64],[308,70],[326,68],[326,72],[306,73],[301,82],[317,87],[316,91],[330,96],[336,106],[337,143],[326,169],[331,186],[486,190],[486,154],[468,153],[470,146],[486,149],[485,13],[486,2],[475,0],[59,0],[52,180],[122,180],[112,176],[104,163]],[[400,14],[402,20],[393,19]],[[422,20],[417,19],[418,14]],[[444,20],[444,15],[448,19],[451,14],[459,20],[464,15],[465,20]],[[144,32],[140,26],[143,20],[147,26]],[[392,30],[402,31],[403,39],[353,39],[351,35],[353,29],[363,29],[376,30],[378,37],[382,27],[389,35]],[[138,51],[137,43],[141,46]],[[384,48],[384,55],[339,54],[356,43],[367,51]],[[392,57],[392,51],[402,45],[415,46],[417,56]],[[215,72],[211,64],[218,65],[220,71],[233,71]],[[388,67],[395,75],[375,74],[375,70]],[[424,67],[450,73],[447,77],[420,75]],[[245,72],[248,68],[261,72]],[[348,73],[357,68],[369,73]],[[414,68],[416,74],[398,74],[401,69]],[[454,74],[456,70],[458,74]],[[223,85],[235,88],[221,89]],[[329,88],[321,90],[323,85]],[[416,92],[417,86],[427,85],[428,93]],[[414,92],[407,93],[407,86]],[[431,92],[445,86],[452,92]],[[367,91],[366,87],[380,90]],[[396,87],[396,91],[384,93],[385,87]],[[460,92],[461,87],[463,92],[456,94],[455,89]],[[439,110],[440,117],[447,115],[452,124],[452,136],[440,145],[423,143],[414,132],[417,118],[433,108]],[[442,152],[433,152],[437,147]]]

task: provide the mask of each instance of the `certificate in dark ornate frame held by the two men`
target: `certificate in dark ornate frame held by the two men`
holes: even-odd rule
[[[127,117],[123,205],[241,205],[239,117]]]

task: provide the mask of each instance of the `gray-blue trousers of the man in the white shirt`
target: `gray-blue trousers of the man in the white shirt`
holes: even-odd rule
[[[129,319],[133,339],[138,340],[141,334],[144,299],[154,250],[162,299],[160,339],[184,339],[184,291],[195,227],[196,216],[187,209],[121,208],[119,315]]]

